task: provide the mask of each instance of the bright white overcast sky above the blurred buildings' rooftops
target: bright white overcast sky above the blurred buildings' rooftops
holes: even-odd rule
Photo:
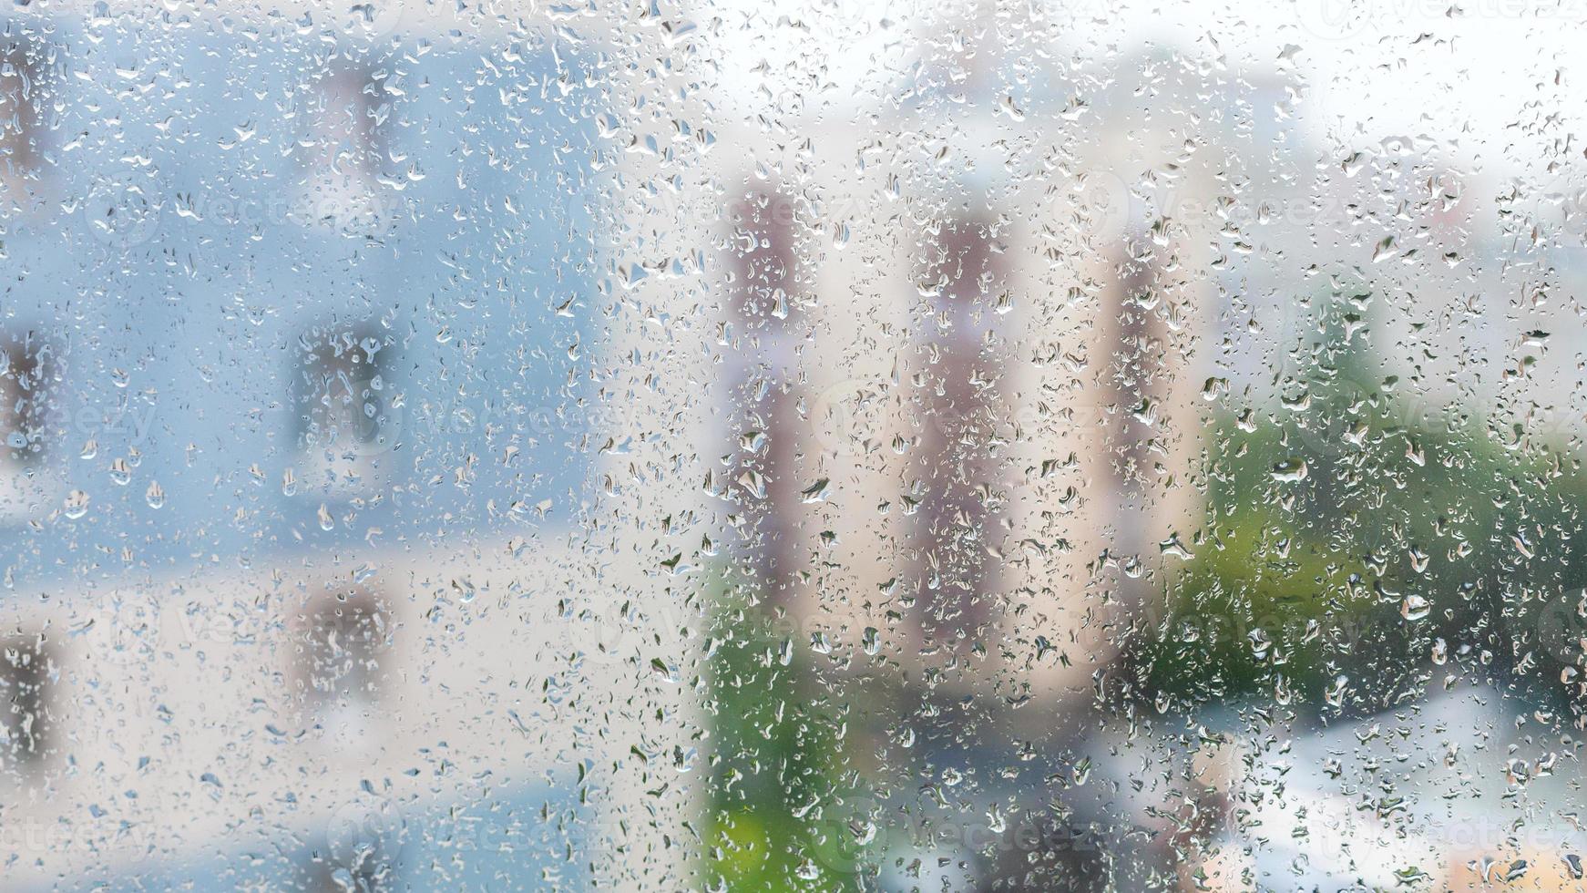
[[[1227,10],[1209,0],[1000,0],[998,6],[1032,2],[1052,6],[1054,49],[1063,57],[1100,60],[1147,44],[1200,44],[1195,52],[1206,56],[1212,35],[1230,65],[1271,71],[1285,48],[1295,46],[1293,71],[1311,87],[1298,114],[1314,136],[1341,144],[1427,136],[1449,157],[1500,174],[1535,168],[1544,144],[1544,136],[1517,124],[1557,116],[1547,138],[1563,140],[1587,114],[1587,0],[1563,6],[1473,0],[1458,10],[1433,0],[1247,0]],[[941,36],[944,17],[986,21],[987,10],[990,3],[981,0],[809,0],[803,6],[701,0],[689,16],[703,27],[711,17],[724,19],[706,40],[725,73],[762,60],[773,71],[819,62],[832,81],[855,84],[876,75],[878,60],[897,67],[911,56],[919,40],[909,33],[911,22],[930,22],[916,30]],[[808,40],[778,27],[779,17],[809,22]],[[895,25],[879,27],[882,19]],[[765,102],[762,82],[724,78],[728,90],[741,87],[736,98],[746,106]],[[863,94],[851,95],[867,102]]]

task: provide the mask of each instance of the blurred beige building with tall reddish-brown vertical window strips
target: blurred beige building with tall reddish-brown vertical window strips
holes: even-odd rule
[[[1192,62],[1038,81],[990,41],[922,43],[897,108],[767,127],[716,98],[732,151],[703,233],[701,450],[728,468],[706,511],[740,519],[738,566],[811,673],[871,680],[847,690],[854,753],[920,772],[897,790],[1087,734],[1163,566],[1197,549],[1209,343],[1247,251]]]

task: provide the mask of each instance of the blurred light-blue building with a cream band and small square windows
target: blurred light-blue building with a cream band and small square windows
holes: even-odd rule
[[[0,25],[13,888],[670,871],[670,750],[600,701],[676,688],[568,535],[598,62],[359,27]]]

